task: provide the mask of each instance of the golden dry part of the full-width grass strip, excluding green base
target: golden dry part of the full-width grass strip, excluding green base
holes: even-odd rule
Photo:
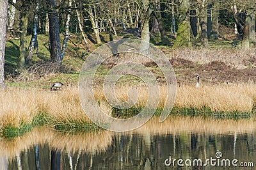
[[[127,86],[118,87],[115,95],[122,101],[128,100]],[[159,108],[163,108],[166,100],[166,89],[161,86]],[[99,107],[111,115],[112,108],[106,101],[102,89],[95,89],[94,96]],[[255,102],[255,84],[233,84],[209,86],[177,87],[175,107],[202,108],[208,107],[212,112],[251,112]],[[132,98],[136,98],[132,96]],[[135,107],[145,107],[148,101],[146,87],[138,87],[138,101]],[[90,107],[90,111],[96,109]],[[48,125],[76,124],[90,122],[81,107],[76,87],[64,88],[61,91],[45,91],[42,89],[8,88],[0,91],[0,128],[19,127],[21,123],[32,123],[38,113],[47,114]]]

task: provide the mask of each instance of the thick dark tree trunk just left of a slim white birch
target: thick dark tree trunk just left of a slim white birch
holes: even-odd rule
[[[49,36],[50,36],[50,53],[51,53],[51,61],[56,63],[57,65],[61,65],[61,49],[60,49],[60,29],[58,22],[58,15],[55,10],[55,1],[47,0],[50,5],[49,10]]]

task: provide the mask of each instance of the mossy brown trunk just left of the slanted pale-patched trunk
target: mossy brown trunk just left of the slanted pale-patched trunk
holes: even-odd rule
[[[20,19],[20,46],[19,46],[19,63],[18,68],[20,71],[24,68],[26,57],[26,43],[27,43],[27,29],[28,29],[28,12],[22,12]]]

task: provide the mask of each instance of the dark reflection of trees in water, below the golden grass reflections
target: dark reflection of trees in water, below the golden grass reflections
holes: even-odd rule
[[[250,161],[255,158],[255,133],[244,134],[113,134],[113,141],[105,151],[86,152],[68,148],[52,148],[49,143],[31,146],[8,162],[8,168],[36,169],[39,156],[41,169],[131,169],[132,167],[164,168],[164,160],[172,158],[215,158],[216,151],[223,158]],[[234,144],[235,143],[235,144]],[[38,151],[36,151],[38,150]],[[69,151],[68,151],[69,150]],[[234,154],[236,150],[236,154]],[[38,155],[36,156],[36,152]],[[51,156],[50,156],[51,155]],[[3,158],[0,159],[3,162]],[[38,161],[38,160],[37,160]],[[255,161],[255,160],[254,160]],[[20,162],[20,163],[19,163]],[[37,162],[38,163],[38,162]],[[4,164],[1,164],[1,166]]]

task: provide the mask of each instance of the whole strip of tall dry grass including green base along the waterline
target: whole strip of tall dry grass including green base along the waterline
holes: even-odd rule
[[[126,101],[127,87],[116,90],[116,97]],[[164,86],[157,113],[164,106]],[[131,117],[147,104],[147,89],[138,88],[138,101],[131,109],[117,110],[107,104],[102,89],[94,89],[99,107],[104,113],[118,118]],[[214,116],[217,118],[250,117],[255,111],[255,84],[179,86],[172,114],[184,116]],[[95,112],[95,108],[90,108]],[[81,107],[77,87],[61,91],[7,88],[0,91],[0,129],[4,136],[20,135],[31,127],[46,126],[57,130],[97,131]]]

